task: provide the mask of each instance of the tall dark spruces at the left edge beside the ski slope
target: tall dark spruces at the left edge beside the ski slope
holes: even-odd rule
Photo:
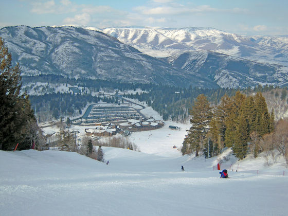
[[[0,150],[31,147],[31,137],[41,132],[38,128],[27,94],[21,94],[19,65],[11,66],[12,58],[4,40],[0,38]],[[35,127],[37,125],[37,127]],[[37,141],[37,140],[35,140]],[[37,143],[36,143],[37,144]]]

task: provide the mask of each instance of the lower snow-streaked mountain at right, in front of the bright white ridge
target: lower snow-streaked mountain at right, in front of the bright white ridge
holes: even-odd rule
[[[265,85],[286,85],[288,67],[260,64],[211,51],[186,51],[166,60],[174,67],[195,71],[221,87],[243,88]]]

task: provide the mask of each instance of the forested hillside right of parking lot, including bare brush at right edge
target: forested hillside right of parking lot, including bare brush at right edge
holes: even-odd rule
[[[218,89],[200,89],[200,88],[175,88],[168,86],[154,86],[147,93],[128,94],[124,97],[146,101],[151,105],[164,120],[171,119],[173,121],[187,121],[189,110],[194,104],[195,98],[204,94],[211,105],[219,104],[221,98],[226,94],[231,97],[240,89],[218,88]],[[258,85],[254,89],[247,88],[242,91],[246,95],[254,95],[257,92],[262,92],[267,99],[268,110],[276,113],[276,119],[287,117],[288,99],[286,97],[287,88],[279,88],[274,86]],[[275,94],[273,94],[275,92]],[[276,105],[277,104],[277,105]]]

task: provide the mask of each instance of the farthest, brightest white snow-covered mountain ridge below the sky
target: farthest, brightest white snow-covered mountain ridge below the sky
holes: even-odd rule
[[[245,37],[214,28],[105,28],[102,32],[154,57],[209,50],[259,63],[288,66],[288,37]]]

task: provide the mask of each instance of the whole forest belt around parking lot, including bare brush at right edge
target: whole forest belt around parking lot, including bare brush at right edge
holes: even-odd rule
[[[58,75],[40,75],[37,77],[23,77],[23,83],[27,92],[38,93],[30,95],[33,110],[38,116],[39,121],[51,120],[64,116],[73,116],[81,114],[87,103],[97,101],[119,103],[121,98],[116,96],[96,96],[95,93],[120,92],[119,96],[124,98],[137,99],[146,102],[152,106],[164,120],[187,122],[189,120],[189,109],[191,109],[195,98],[204,94],[211,105],[219,104],[221,98],[226,94],[229,97],[234,96],[240,89],[218,88],[184,88],[167,85],[142,84],[142,83],[124,83],[105,80],[89,79],[68,79]],[[44,83],[41,85],[35,83]],[[45,84],[46,83],[46,84]],[[78,93],[67,91],[59,93],[55,88],[57,84],[76,86]],[[136,91],[139,89],[139,91]],[[125,93],[133,91],[134,93]],[[262,92],[268,105],[268,111],[274,109],[275,119],[288,116],[287,89],[274,86],[261,86],[247,88],[242,90],[246,95],[254,95]],[[44,94],[45,93],[45,94]],[[46,94],[49,93],[49,94]],[[122,95],[123,94],[123,95]]]

